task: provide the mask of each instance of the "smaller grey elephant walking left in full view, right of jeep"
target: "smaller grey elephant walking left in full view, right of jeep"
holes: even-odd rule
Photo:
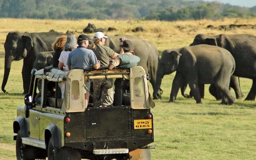
[[[156,96],[163,76],[176,71],[169,102],[174,102],[180,87],[188,84],[196,103],[202,103],[199,85],[214,84],[222,95],[221,104],[230,105],[236,100],[228,89],[234,70],[235,61],[230,52],[217,46],[202,44],[165,50],[158,62],[153,95]]]

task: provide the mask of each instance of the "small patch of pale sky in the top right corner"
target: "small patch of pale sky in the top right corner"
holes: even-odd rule
[[[253,7],[256,6],[256,0],[204,0],[207,2],[218,1],[221,3],[229,3],[231,5],[242,6],[242,7]]]

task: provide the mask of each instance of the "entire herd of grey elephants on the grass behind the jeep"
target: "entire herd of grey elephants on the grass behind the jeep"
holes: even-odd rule
[[[52,64],[52,43],[58,32],[21,33],[9,32],[4,43],[4,78],[2,91],[8,81],[13,60],[23,61],[23,94],[29,89],[32,68],[42,69]],[[242,98],[238,77],[252,79],[252,87],[245,100],[255,100],[256,96],[256,36],[246,34],[208,36],[198,34],[190,46],[164,50],[161,59],[156,47],[150,42],[135,36],[126,36],[135,44],[134,52],[140,57],[138,65],[148,72],[153,86],[155,99],[161,97],[160,85],[166,74],[176,71],[172,82],[170,101],[174,102],[181,89],[184,97],[194,97],[196,103],[202,103],[204,84],[210,84],[210,93],[221,104],[233,104],[236,98]],[[109,36],[105,45],[119,52],[120,36]],[[186,86],[190,95],[184,94]],[[236,98],[229,88],[234,88]]]

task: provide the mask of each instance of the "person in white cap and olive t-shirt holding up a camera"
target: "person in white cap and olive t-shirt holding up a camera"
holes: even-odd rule
[[[104,46],[105,40],[108,38],[102,32],[96,32],[94,34],[93,42],[90,49],[95,53],[97,59],[100,61],[100,66],[108,66],[110,59],[116,59],[119,55],[111,48]],[[120,45],[126,38],[122,37]],[[124,50],[120,50],[120,54],[123,54]],[[111,106],[114,102],[114,82],[112,79],[98,79],[92,80],[93,82],[93,102],[94,107],[97,106]]]

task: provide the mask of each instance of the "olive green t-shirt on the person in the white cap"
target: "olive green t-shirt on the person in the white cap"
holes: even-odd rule
[[[100,66],[108,66],[109,58],[112,58],[115,54],[114,50],[104,45],[96,44],[94,49],[90,49],[94,52],[97,59],[100,61]]]

